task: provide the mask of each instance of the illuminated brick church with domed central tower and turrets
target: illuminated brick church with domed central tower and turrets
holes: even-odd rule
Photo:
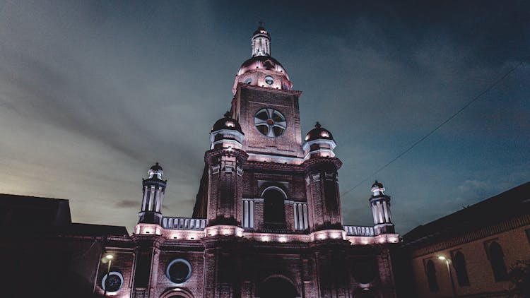
[[[298,99],[262,27],[210,132],[192,217],[163,215],[166,182],[143,179],[139,223],[105,240],[93,292],[112,297],[396,297],[399,241],[375,181],[374,225],[345,225],[331,132],[300,129]],[[227,102],[228,104],[228,102]],[[368,191],[367,191],[368,193]]]

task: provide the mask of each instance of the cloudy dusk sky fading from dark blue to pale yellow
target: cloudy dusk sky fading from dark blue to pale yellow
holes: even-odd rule
[[[345,224],[372,225],[375,179],[400,233],[530,181],[529,1],[0,1],[0,193],[132,232],[158,161],[164,215],[191,216],[259,20],[302,133],[334,135],[341,193],[366,179]]]

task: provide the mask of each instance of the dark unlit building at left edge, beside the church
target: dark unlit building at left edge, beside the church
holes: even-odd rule
[[[124,227],[71,222],[67,200],[0,194],[0,297],[95,297],[107,237]]]

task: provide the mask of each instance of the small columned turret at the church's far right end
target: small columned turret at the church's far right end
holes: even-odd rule
[[[394,234],[394,224],[390,215],[390,197],[384,194],[383,184],[375,180],[372,184],[370,205],[374,216],[374,232],[378,234]]]

